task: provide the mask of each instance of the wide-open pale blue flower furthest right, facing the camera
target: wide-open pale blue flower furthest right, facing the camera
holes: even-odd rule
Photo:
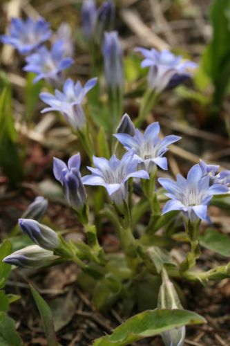
[[[209,185],[209,176],[204,176],[200,165],[194,165],[189,170],[187,179],[180,174],[177,180],[159,178],[159,183],[167,191],[167,201],[162,214],[172,210],[181,210],[186,219],[209,221],[207,205],[215,194],[228,192],[227,186],[220,184]]]

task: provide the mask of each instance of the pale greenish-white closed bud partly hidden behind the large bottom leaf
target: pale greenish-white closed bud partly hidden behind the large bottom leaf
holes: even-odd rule
[[[162,274],[162,286],[160,286],[157,307],[158,309],[182,309],[178,293],[165,270]],[[162,333],[165,346],[183,346],[184,338],[185,327],[174,328]]]

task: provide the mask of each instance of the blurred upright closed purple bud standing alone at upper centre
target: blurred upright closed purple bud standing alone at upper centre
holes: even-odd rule
[[[102,46],[106,82],[111,89],[122,89],[124,84],[122,48],[117,31],[104,33]]]

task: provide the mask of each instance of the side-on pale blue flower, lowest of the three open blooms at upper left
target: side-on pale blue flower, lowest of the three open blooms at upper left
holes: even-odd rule
[[[82,86],[81,82],[74,84],[73,80],[68,78],[63,86],[63,92],[55,90],[52,93],[40,93],[40,98],[50,107],[41,111],[60,111],[64,118],[74,129],[82,129],[86,124],[86,117],[82,108],[82,102],[90,89],[97,83],[97,78],[92,78]]]

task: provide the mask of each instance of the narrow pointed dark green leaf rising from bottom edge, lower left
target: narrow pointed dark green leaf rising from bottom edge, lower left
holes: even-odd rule
[[[39,293],[35,290],[35,288],[31,284],[30,284],[30,290],[31,290],[32,296],[35,299],[35,302],[37,304],[37,309],[39,309],[41,319],[44,323],[47,345],[48,346],[57,346],[58,343],[57,343],[57,338],[55,335],[54,323],[52,320],[52,312],[51,312],[50,308],[48,307],[48,304],[41,297],[41,295],[39,295]]]

